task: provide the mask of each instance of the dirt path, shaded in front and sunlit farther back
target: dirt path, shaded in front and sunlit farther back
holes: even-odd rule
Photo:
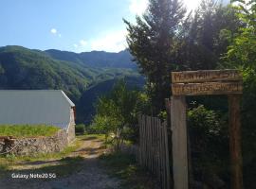
[[[37,170],[46,167],[46,174],[51,170],[51,166],[59,169],[70,168],[63,166],[61,160],[49,160],[46,162],[27,163],[15,166],[15,170],[10,172],[6,177],[0,179],[1,189],[115,189],[119,188],[120,180],[110,178],[106,171],[101,167],[98,157],[104,152],[102,141],[91,137],[83,139],[82,146],[72,152],[68,157],[70,160],[80,156],[82,157],[79,163],[74,162],[74,170],[71,174],[65,177],[57,177],[55,179],[13,179],[13,173],[29,175],[37,173]],[[72,163],[72,162],[71,162]],[[76,168],[76,169],[75,169]],[[54,169],[52,169],[54,170]],[[42,170],[40,174],[42,173]],[[26,177],[26,176],[25,176]],[[29,176],[28,176],[29,178]]]

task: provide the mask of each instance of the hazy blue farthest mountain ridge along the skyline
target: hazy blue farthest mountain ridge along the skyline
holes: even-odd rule
[[[50,49],[45,51],[47,55],[56,60],[72,61],[94,68],[131,68],[136,69],[133,57],[128,50],[119,53],[108,53],[104,51],[92,51],[74,53]]]

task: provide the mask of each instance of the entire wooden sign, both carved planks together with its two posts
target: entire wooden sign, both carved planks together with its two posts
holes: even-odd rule
[[[174,189],[189,188],[185,95],[229,94],[229,146],[231,188],[243,189],[240,98],[242,74],[238,70],[202,70],[172,73],[171,129]]]

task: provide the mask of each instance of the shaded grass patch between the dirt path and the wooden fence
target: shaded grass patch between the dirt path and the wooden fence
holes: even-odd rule
[[[101,163],[108,173],[121,179],[121,188],[124,189],[152,189],[158,188],[153,176],[136,163],[135,157],[113,152],[101,155]]]

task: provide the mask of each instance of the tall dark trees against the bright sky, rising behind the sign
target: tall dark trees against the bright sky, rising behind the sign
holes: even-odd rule
[[[170,72],[216,69],[229,45],[223,31],[236,32],[242,26],[233,9],[214,0],[203,0],[194,14],[184,13],[178,0],[152,0],[136,25],[124,21],[155,115],[170,96]]]

